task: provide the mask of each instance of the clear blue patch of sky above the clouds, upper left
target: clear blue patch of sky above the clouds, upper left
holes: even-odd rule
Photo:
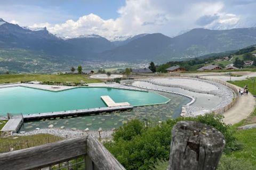
[[[41,7],[42,9],[55,8],[62,11],[66,15],[71,16],[69,19],[78,19],[80,16],[94,13],[102,19],[116,19],[118,17],[117,10],[125,4],[124,0],[0,0],[1,6],[7,6],[14,9],[22,5],[28,11],[33,11],[33,6]],[[22,9],[20,9],[22,10]],[[61,21],[61,20],[59,20]],[[41,21],[47,22],[47,21]]]

